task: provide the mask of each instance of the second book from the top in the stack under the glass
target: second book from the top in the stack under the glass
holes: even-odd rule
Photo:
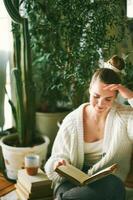
[[[24,187],[19,181],[17,181],[17,183],[15,184],[15,188],[20,190],[27,199],[48,197],[53,195],[53,190],[51,189],[50,185],[45,185],[43,189],[38,188],[37,191],[28,192],[26,187]]]

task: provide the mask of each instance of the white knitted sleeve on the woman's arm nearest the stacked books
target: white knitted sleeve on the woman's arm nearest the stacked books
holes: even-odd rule
[[[49,179],[53,182],[61,182],[63,178],[54,171],[54,164],[60,159],[64,159],[66,162],[70,162],[70,145],[71,145],[71,133],[72,123],[67,118],[63,121],[57,136],[55,138],[52,153],[50,158],[45,164],[45,171]]]

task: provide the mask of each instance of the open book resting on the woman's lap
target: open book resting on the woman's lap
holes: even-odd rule
[[[113,164],[91,176],[88,174],[82,172],[80,169],[74,167],[73,165],[67,164],[67,165],[61,165],[55,169],[57,173],[60,175],[66,177],[76,185],[86,185],[88,183],[94,182],[100,178],[103,178],[105,176],[108,176],[109,174],[115,172],[115,170],[118,168],[117,164]]]

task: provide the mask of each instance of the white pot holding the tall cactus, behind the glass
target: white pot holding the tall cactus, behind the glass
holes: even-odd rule
[[[27,154],[38,154],[40,156],[40,164],[44,165],[47,158],[47,149],[49,145],[49,138],[47,136],[44,136],[44,143],[33,147],[9,146],[5,144],[7,137],[9,136],[4,136],[1,138],[1,147],[5,161],[6,174],[9,179],[17,179],[18,170],[24,168],[24,157]],[[12,135],[10,137],[12,137]]]

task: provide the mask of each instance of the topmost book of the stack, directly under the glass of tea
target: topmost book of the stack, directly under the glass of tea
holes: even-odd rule
[[[46,185],[51,186],[52,181],[48,179],[47,175],[41,169],[38,170],[37,175],[30,176],[27,174],[26,169],[21,169],[18,171],[18,180],[21,185],[23,185],[28,192],[34,190],[41,190],[45,188]]]

